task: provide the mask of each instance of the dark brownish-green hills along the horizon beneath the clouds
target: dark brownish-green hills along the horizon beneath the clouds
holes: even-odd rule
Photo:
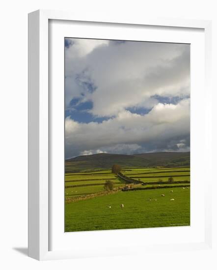
[[[190,166],[190,152],[157,152],[136,155],[94,154],[65,161],[66,172],[97,171],[110,169],[113,164],[122,168],[181,167]]]

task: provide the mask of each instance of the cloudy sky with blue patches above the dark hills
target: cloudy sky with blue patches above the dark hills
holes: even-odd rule
[[[65,158],[190,151],[190,45],[65,38]]]

